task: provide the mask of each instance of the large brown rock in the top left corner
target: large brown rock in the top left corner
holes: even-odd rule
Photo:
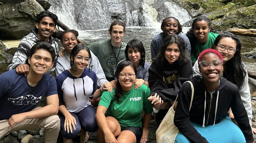
[[[12,0],[0,5],[0,39],[21,39],[35,27],[44,8],[36,0]]]

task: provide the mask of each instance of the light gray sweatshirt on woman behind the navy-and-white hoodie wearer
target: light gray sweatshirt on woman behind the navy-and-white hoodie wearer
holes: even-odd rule
[[[108,81],[105,77],[105,74],[104,74],[102,68],[101,68],[101,64],[100,64],[98,58],[93,54],[92,51],[90,51],[90,52],[91,52],[91,57],[92,57],[90,69],[96,73],[97,86],[101,87],[104,83],[106,83]],[[68,53],[66,53],[66,51],[64,52],[64,55],[65,55],[64,57],[58,57],[56,69],[55,69],[56,77],[60,73],[62,73],[64,70],[70,69],[70,55]]]

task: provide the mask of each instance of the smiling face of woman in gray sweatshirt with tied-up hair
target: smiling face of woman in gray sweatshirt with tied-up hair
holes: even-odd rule
[[[77,44],[76,36],[72,32],[67,32],[63,35],[61,45],[65,48],[68,54],[71,53],[71,50]]]

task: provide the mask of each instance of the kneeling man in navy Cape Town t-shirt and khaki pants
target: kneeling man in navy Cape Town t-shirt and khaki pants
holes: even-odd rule
[[[56,57],[46,42],[35,44],[29,52],[27,76],[15,69],[0,75],[0,139],[10,132],[45,128],[45,143],[56,143],[60,129],[58,92],[54,77],[48,74]],[[46,96],[47,105],[36,107]]]

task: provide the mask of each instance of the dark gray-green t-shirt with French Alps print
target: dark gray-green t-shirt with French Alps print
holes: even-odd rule
[[[126,43],[120,47],[111,47],[110,39],[97,41],[88,46],[101,63],[101,67],[107,80],[114,80],[114,69],[117,63],[125,59]],[[118,55],[119,54],[119,55]]]

